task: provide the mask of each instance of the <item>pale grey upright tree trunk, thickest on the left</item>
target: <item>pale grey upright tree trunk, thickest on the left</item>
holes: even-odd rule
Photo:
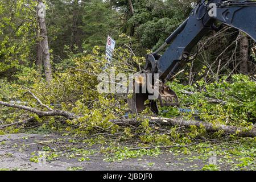
[[[42,39],[42,49],[43,49],[43,62],[44,62],[44,73],[46,75],[46,81],[50,82],[52,80],[52,67],[50,62],[48,36],[46,28],[46,19],[44,18],[44,9],[42,0],[38,0],[38,24],[40,28],[40,36]]]

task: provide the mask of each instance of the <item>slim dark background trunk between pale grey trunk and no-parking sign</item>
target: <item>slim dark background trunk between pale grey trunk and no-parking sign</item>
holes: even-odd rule
[[[73,51],[73,46],[77,44],[76,38],[77,38],[77,31],[78,31],[78,11],[79,11],[79,0],[74,0],[73,1],[73,20],[72,20],[72,27],[71,27],[71,42],[70,42],[70,47],[71,50]]]

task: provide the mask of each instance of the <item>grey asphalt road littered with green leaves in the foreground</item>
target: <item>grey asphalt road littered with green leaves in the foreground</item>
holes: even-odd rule
[[[208,159],[191,160],[187,155],[175,155],[170,150],[161,151],[158,156],[143,156],[141,158],[125,159],[120,162],[106,162],[106,156],[101,152],[89,155],[89,160],[79,161],[79,158],[67,158],[68,152],[63,151],[60,156],[53,156],[52,160],[45,161],[40,158],[39,163],[31,161],[31,158],[42,147],[48,146],[47,141],[56,141],[58,135],[37,134],[11,134],[0,136],[0,169],[9,170],[200,170],[209,164]],[[63,140],[62,140],[63,142]],[[54,143],[54,142],[52,142]],[[63,142],[65,143],[65,142]],[[22,147],[23,146],[23,147]],[[61,147],[60,147],[61,148]],[[90,148],[84,148],[90,150]],[[100,147],[94,146],[95,151]],[[197,154],[192,154],[197,155]],[[222,170],[229,170],[227,164],[220,165]]]

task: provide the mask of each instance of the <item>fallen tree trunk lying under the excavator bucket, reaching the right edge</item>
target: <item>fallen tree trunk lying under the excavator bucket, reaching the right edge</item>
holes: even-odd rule
[[[192,120],[183,120],[181,118],[159,118],[159,117],[146,117],[149,119],[151,124],[158,124],[161,126],[184,126],[190,127],[195,125],[197,127],[204,126],[205,130],[208,132],[216,132],[216,131],[224,131],[225,134],[237,134],[241,137],[256,137],[256,129],[250,131],[243,131],[244,128],[236,127],[236,126],[226,126],[226,125],[218,125],[214,126],[213,123],[208,122],[200,122],[200,121],[192,121]],[[136,118],[133,119],[120,119],[114,120],[113,123],[116,123],[119,126],[138,126],[140,124]]]

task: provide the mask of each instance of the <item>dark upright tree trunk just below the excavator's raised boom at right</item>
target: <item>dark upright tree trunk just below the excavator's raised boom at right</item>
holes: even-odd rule
[[[243,74],[249,73],[249,40],[245,33],[240,32],[240,55],[241,55],[241,63],[240,63],[240,72]]]

